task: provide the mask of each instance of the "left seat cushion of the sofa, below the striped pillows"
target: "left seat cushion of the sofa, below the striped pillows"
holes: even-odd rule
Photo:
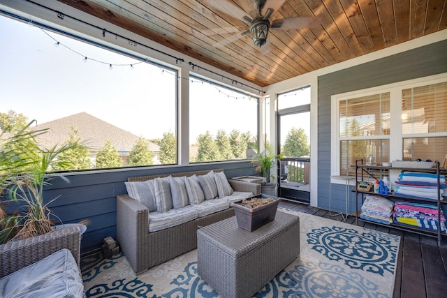
[[[197,211],[190,205],[179,209],[170,209],[166,212],[149,212],[149,232],[175,227],[196,218]]]

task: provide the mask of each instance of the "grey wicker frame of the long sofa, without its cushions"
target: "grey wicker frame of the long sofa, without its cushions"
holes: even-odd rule
[[[210,170],[179,172],[142,177],[129,177],[128,181],[147,181],[157,177],[191,177],[205,175]],[[222,169],[213,172],[223,172]],[[253,195],[261,193],[260,184],[228,180],[231,188],[237,192]],[[149,210],[128,194],[117,196],[117,239],[127,260],[136,274],[146,271],[154,265],[175,258],[197,247],[197,230],[200,226],[216,223],[234,216],[233,207],[195,218],[186,223],[175,225],[156,232],[149,232]]]

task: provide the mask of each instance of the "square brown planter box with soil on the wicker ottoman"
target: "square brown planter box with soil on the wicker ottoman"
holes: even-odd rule
[[[264,204],[261,207],[253,209],[242,206],[238,202],[231,204],[231,206],[235,209],[237,225],[243,230],[252,232],[262,225],[273,221],[274,216],[277,214],[279,201],[280,199],[277,199],[273,202],[269,202],[268,204]]]

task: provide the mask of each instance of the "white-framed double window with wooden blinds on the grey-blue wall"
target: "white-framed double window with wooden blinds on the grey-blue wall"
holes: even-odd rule
[[[381,165],[420,159],[447,168],[447,73],[335,94],[331,100],[332,175],[354,175],[358,160]]]

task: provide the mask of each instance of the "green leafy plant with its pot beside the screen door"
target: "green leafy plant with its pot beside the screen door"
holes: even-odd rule
[[[256,145],[254,149],[256,155],[251,158],[251,165],[254,165],[256,173],[261,174],[264,178],[263,183],[261,183],[261,193],[274,195],[277,177],[274,174],[270,174],[270,169],[274,167],[277,161],[281,161],[284,156],[282,154],[275,154],[274,148],[269,142],[265,143],[265,149],[263,151],[260,151]]]

